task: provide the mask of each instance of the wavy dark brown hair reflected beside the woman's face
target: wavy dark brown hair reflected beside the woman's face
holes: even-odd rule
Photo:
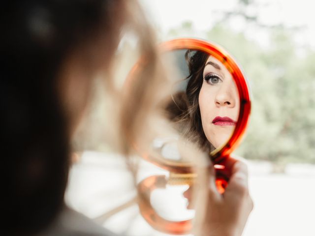
[[[177,127],[192,142],[203,150],[214,150],[202,128],[199,108],[199,92],[203,83],[203,70],[209,54],[202,51],[188,50],[185,59],[189,67],[186,92],[178,92],[166,106],[167,116],[177,123]]]

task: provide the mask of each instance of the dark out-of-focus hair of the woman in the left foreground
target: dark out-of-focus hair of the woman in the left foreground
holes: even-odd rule
[[[0,14],[2,232],[32,234],[63,206],[69,133],[57,74],[101,32],[115,45],[122,0],[9,0]],[[112,41],[111,41],[112,40]],[[87,59],[87,62],[89,59]]]

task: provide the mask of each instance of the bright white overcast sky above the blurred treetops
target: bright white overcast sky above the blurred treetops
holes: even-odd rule
[[[261,23],[266,25],[284,24],[287,27],[303,26],[296,35],[300,45],[310,44],[315,48],[315,2],[311,0],[254,0],[258,6],[253,6],[250,13],[258,15]],[[160,29],[161,37],[169,29],[180,26],[185,21],[191,21],[197,31],[210,29],[216,16],[214,11],[235,9],[237,0],[140,0],[152,23]],[[233,22],[235,30],[243,30],[241,19]],[[265,43],[263,32],[246,29],[246,34]],[[189,36],[189,35],[182,35]],[[202,35],[190,35],[199,36]]]

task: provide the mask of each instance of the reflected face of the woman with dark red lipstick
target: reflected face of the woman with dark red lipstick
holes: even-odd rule
[[[203,131],[208,141],[219,148],[234,131],[240,101],[232,75],[218,59],[211,56],[203,70],[199,107]]]

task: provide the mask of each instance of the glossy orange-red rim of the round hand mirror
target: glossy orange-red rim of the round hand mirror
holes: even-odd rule
[[[216,148],[210,153],[213,164],[221,164],[224,162],[225,158],[227,158],[231,152],[238,147],[248,126],[251,113],[251,98],[247,80],[232,56],[221,46],[215,43],[194,38],[179,38],[163,42],[158,46],[160,53],[181,49],[199,50],[215,57],[228,69],[237,86],[240,98],[240,112],[234,132],[230,139],[221,146],[221,148]],[[126,80],[126,87],[132,83],[132,75],[139,69],[141,69],[139,64],[136,64],[132,68]],[[136,145],[134,146],[136,147]],[[138,151],[141,153],[141,150]],[[191,173],[191,168],[193,167],[193,163],[191,162],[161,160],[161,158],[155,158],[147,153],[141,153],[141,155],[144,159],[150,161],[151,163],[173,173]]]

